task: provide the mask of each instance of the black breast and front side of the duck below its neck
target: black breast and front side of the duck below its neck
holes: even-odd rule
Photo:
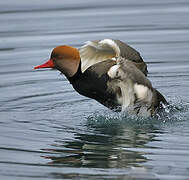
[[[115,109],[119,105],[116,95],[108,86],[110,81],[107,71],[115,61],[107,60],[89,67],[84,73],[79,72],[69,78],[73,88],[81,95],[95,99],[104,106]]]

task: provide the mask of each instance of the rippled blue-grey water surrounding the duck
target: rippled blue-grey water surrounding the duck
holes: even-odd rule
[[[189,179],[189,2],[0,2],[0,179]],[[138,119],[78,95],[52,48],[120,39],[171,111]]]

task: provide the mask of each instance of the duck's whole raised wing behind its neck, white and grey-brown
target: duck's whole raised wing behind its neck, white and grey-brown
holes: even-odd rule
[[[96,63],[110,59],[114,60],[114,57],[123,57],[132,61],[145,75],[148,73],[146,63],[143,61],[140,53],[119,40],[87,41],[79,49],[79,52],[82,72]]]

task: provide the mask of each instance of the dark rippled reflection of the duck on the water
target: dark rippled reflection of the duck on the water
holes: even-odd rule
[[[106,120],[102,121],[101,116],[89,117],[85,133],[76,133],[73,141],[56,141],[52,149],[46,150],[58,154],[45,158],[51,159],[50,164],[71,167],[140,166],[140,163],[147,161],[144,153],[129,151],[129,148],[145,147],[154,140],[152,132],[158,129],[151,123],[141,127],[131,125],[126,123],[128,120],[117,121],[112,118],[107,123]]]

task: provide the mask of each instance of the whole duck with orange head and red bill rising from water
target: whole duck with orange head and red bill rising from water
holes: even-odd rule
[[[55,47],[50,59],[34,69],[55,68],[81,95],[109,109],[153,116],[167,104],[147,79],[147,65],[140,53],[113,39],[87,41],[77,49]]]

